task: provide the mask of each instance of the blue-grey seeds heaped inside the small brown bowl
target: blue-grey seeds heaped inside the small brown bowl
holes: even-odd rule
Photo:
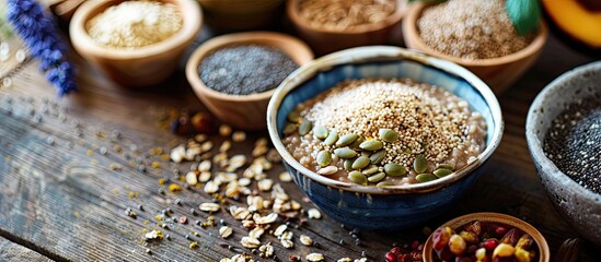
[[[282,51],[258,45],[233,46],[207,56],[200,79],[217,92],[250,95],[273,90],[298,66]]]

